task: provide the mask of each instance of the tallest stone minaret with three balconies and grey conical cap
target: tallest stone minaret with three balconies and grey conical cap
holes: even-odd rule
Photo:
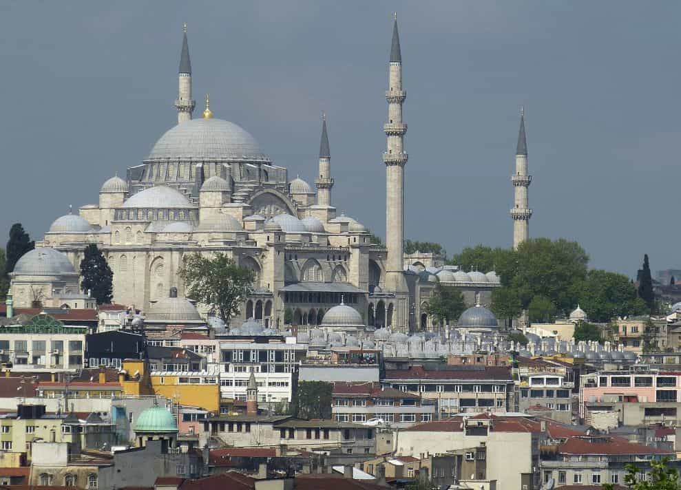
[[[392,27],[392,47],[388,76],[388,122],[384,131],[388,138],[388,148],[383,154],[386,164],[386,244],[388,261],[386,264],[386,288],[406,290],[404,279],[404,165],[407,153],[404,151],[404,134],[407,125],[402,122],[402,104],[407,94],[402,89],[402,56],[399,49],[397,32],[397,12]]]

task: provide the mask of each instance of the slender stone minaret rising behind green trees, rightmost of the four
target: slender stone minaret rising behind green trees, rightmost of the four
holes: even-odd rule
[[[518,148],[516,149],[516,173],[511,177],[514,187],[514,202],[511,209],[513,218],[513,248],[530,237],[530,217],[532,209],[527,203],[527,188],[532,182],[532,175],[527,175],[527,140],[525,138],[525,112],[520,109],[520,131],[518,132]]]

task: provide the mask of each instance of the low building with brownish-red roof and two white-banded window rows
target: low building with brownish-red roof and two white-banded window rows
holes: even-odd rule
[[[423,404],[421,394],[403,392],[380,383],[333,383],[332,413],[338,422],[365,423],[379,419],[391,427],[430,422],[434,403]]]

